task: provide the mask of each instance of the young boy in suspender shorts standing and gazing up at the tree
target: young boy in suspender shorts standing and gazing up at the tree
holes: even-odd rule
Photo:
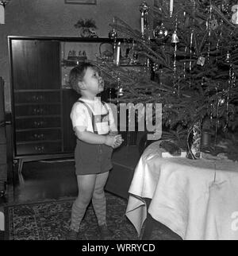
[[[79,195],[71,210],[71,231],[67,239],[77,239],[79,226],[86,208],[92,199],[98,219],[101,239],[110,239],[112,234],[106,225],[106,197],[104,186],[112,169],[113,148],[121,145],[121,135],[113,121],[109,106],[96,95],[104,90],[102,77],[90,63],[73,68],[69,80],[81,97],[71,110],[71,121],[77,145],[75,147],[75,173]]]

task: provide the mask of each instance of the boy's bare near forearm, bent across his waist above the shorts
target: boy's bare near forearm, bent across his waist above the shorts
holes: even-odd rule
[[[117,142],[117,139],[119,137],[121,137],[121,135],[117,135],[117,136],[99,135],[86,130],[82,131],[82,129],[80,129],[79,126],[75,127],[75,134],[79,138],[79,140],[83,142],[87,142],[90,144],[106,144],[111,147],[114,147],[114,143]]]

